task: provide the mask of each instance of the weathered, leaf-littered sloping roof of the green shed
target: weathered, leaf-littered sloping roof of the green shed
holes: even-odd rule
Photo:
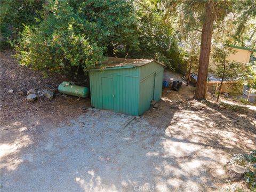
[[[113,67],[124,67],[124,66],[143,66],[147,65],[150,62],[156,62],[159,65],[166,67],[163,63],[158,62],[154,59],[125,59],[125,58],[115,58],[115,57],[107,57],[106,61],[103,61],[102,65],[97,66],[95,68],[113,68]]]

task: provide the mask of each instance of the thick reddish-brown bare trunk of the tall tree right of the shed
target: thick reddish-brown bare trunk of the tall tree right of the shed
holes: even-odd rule
[[[209,66],[209,58],[211,51],[211,40],[213,32],[213,21],[214,21],[214,2],[210,0],[205,5],[205,19],[202,29],[201,37],[201,50],[198,66],[198,76],[196,83],[195,99],[205,99],[205,88],[207,83],[207,74]]]

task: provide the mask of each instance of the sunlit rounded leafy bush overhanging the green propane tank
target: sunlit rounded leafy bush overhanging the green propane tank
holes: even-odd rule
[[[47,14],[38,26],[25,26],[16,45],[16,56],[22,65],[74,73],[104,59],[105,47],[98,46],[93,38],[86,36],[83,31],[86,19],[79,17],[67,1],[49,2],[45,12]]]

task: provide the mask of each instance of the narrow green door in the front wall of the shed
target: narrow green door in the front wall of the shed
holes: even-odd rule
[[[113,89],[113,78],[102,77],[102,108],[103,109],[114,109],[114,89]]]

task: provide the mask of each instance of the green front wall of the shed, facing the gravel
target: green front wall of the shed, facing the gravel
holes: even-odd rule
[[[138,115],[139,108],[139,78],[138,68],[124,68],[115,70],[99,70],[90,71],[90,89],[91,89],[91,103],[92,106],[99,109],[110,109],[111,107],[104,105],[110,98],[106,97],[106,94],[110,95],[112,90],[111,84],[102,82],[102,78],[113,79],[113,107],[118,113],[124,113],[128,115]],[[104,88],[102,86],[105,86]],[[105,90],[105,92],[102,92]],[[103,94],[103,95],[102,95]],[[112,100],[111,100],[112,101]],[[111,103],[111,102],[110,102]],[[111,105],[111,104],[109,104]]]

